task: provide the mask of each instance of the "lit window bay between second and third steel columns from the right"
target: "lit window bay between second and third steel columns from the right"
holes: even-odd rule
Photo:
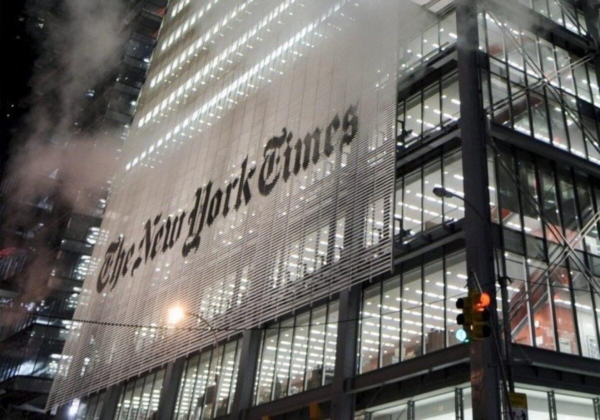
[[[335,367],[338,301],[266,326],[254,403],[262,404],[331,383]]]

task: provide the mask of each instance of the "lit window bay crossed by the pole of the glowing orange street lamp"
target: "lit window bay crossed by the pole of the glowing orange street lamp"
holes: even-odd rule
[[[188,357],[173,419],[210,419],[229,413],[235,395],[240,350],[241,339],[238,339],[216,351],[203,350]]]

